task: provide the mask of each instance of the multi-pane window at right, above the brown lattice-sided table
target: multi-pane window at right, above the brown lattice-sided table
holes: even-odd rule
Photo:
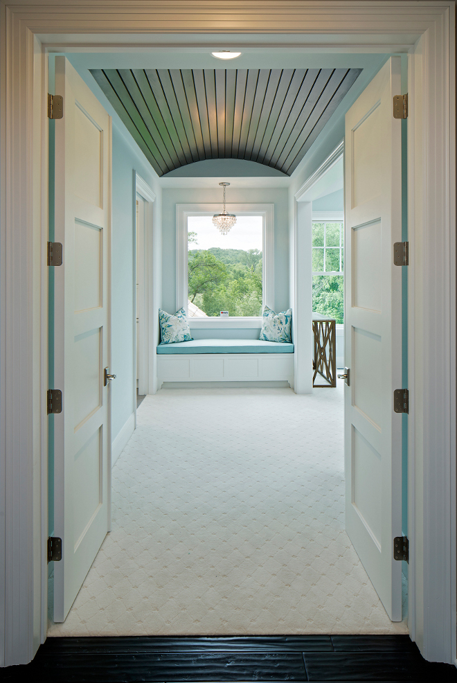
[[[312,310],[343,323],[343,221],[312,223]]]

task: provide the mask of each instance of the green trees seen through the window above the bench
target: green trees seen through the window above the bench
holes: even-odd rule
[[[262,313],[262,251],[192,249],[188,263],[189,299],[207,315]]]

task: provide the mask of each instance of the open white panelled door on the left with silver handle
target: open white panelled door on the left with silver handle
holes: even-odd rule
[[[111,118],[64,57],[55,59],[54,620],[64,621],[110,526]]]

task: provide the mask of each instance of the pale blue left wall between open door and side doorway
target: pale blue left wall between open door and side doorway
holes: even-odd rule
[[[135,188],[134,172],[156,193],[153,220],[161,220],[161,188],[150,163],[117,127],[113,127],[113,213],[111,270],[111,441],[132,415],[134,406],[134,268]]]

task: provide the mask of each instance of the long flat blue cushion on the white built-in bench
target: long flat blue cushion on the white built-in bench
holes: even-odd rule
[[[192,342],[159,344],[157,353],[294,353],[294,344],[259,339],[192,339]]]

